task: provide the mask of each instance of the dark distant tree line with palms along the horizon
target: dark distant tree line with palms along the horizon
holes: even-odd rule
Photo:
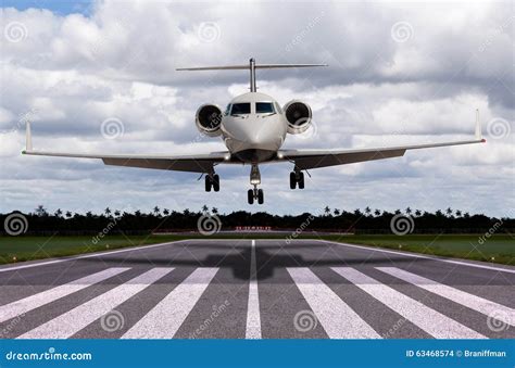
[[[244,211],[219,214],[217,208],[203,206],[194,212],[188,208],[183,212],[169,211],[155,206],[150,213],[141,211],[120,211],[105,208],[101,214],[88,212],[77,214],[58,208],[49,212],[39,205],[32,213],[17,213],[26,221],[23,234],[93,234],[109,230],[110,234],[146,234],[166,231],[197,231],[201,216],[216,216],[221,230],[234,230],[236,227],[265,226],[272,230],[335,231],[354,233],[392,233],[392,219],[404,218],[410,233],[513,233],[515,219],[488,217],[482,214],[470,215],[460,210],[439,210],[429,213],[420,210],[398,210],[393,213],[373,210],[352,212],[325,207],[321,213],[304,213],[297,216],[272,215],[264,212]],[[5,231],[8,216],[0,214],[0,234]],[[1,225],[4,226],[1,226]],[[22,234],[22,236],[23,236]]]

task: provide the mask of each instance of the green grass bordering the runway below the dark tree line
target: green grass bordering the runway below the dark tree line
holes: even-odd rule
[[[409,234],[398,236],[301,236],[299,238],[325,239],[367,246],[379,246],[430,255],[466,258],[515,265],[515,240],[510,234],[494,234],[481,244],[479,234]],[[108,236],[93,242],[92,237],[0,237],[0,264],[60,257],[125,246],[155,244],[181,239],[284,239],[285,234],[216,234],[202,236]]]

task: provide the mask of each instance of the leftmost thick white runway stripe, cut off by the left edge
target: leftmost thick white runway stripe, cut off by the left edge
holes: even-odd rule
[[[5,305],[0,306],[0,322],[16,317],[21,314],[25,314],[29,310],[36,309],[42,305],[56,301],[58,299],[64,297],[79,290],[86,289],[95,283],[106,280],[113,276],[126,271],[127,267],[114,267],[108,268],[100,272],[92,274],[72,282],[42,291],[40,293],[24,297],[20,301],[15,301]]]

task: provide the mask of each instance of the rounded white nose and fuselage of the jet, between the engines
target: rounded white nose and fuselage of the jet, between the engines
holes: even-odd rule
[[[274,112],[258,111],[258,103],[272,103]],[[250,103],[250,113],[233,114],[228,109],[222,117],[221,131],[233,156],[244,163],[273,158],[285,142],[288,122],[275,99],[260,92],[248,92],[233,99],[235,104]]]

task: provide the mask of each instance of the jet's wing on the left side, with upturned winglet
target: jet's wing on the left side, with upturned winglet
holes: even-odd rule
[[[23,154],[35,156],[74,157],[74,158],[100,158],[105,165],[125,167],[145,167],[164,170],[213,173],[213,166],[230,158],[229,152],[213,152],[196,155],[152,155],[152,154],[81,154],[34,151],[30,135],[30,123],[27,123],[26,150]]]

